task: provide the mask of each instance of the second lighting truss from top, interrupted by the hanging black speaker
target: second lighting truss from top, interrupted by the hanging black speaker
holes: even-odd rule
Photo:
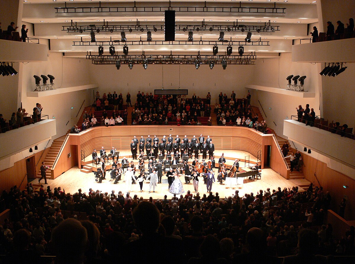
[[[103,22],[103,25],[77,25],[77,22],[71,21],[70,26],[62,26],[62,31],[68,33],[82,33],[82,32],[142,32],[151,31],[164,32],[164,25],[140,25],[137,20],[136,25],[108,25],[108,22]],[[238,20],[230,25],[206,25],[204,20],[201,25],[175,25],[175,31],[224,31],[224,32],[275,32],[279,31],[279,26],[271,26],[270,20],[265,22],[263,26],[249,26],[249,25],[238,25]]]

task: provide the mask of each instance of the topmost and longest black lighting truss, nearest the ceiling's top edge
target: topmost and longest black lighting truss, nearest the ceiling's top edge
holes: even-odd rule
[[[220,13],[231,13],[229,16],[238,16],[237,13],[259,13],[259,14],[285,14],[285,7],[280,8],[276,7],[276,3],[274,3],[273,7],[244,7],[241,6],[241,2],[239,2],[239,6],[235,4],[235,6],[206,6],[206,2],[201,3],[198,6],[171,6],[171,2],[169,1],[169,5],[164,6],[144,6],[144,2],[134,2],[134,6],[102,6],[101,2],[99,2],[98,6],[67,6],[67,3],[64,2],[64,7],[54,7],[57,14],[68,14],[68,13],[117,13],[117,12],[139,12],[139,13],[147,13],[147,12],[164,12],[165,10],[173,10],[175,12],[220,12]],[[138,4],[138,6],[137,6]],[[197,4],[197,3],[195,3]],[[139,6],[142,5],[142,6]]]

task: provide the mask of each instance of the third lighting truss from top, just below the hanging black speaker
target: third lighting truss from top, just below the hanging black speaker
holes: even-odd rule
[[[252,41],[252,42],[245,42],[245,41],[232,41],[230,38],[230,41],[226,42],[218,42],[218,41],[203,41],[202,37],[200,40],[196,41],[145,41],[140,38],[140,40],[137,41],[126,41],[122,42],[119,39],[113,40],[110,37],[109,41],[97,41],[97,42],[90,42],[90,41],[83,41],[81,38],[81,41],[73,41],[73,46],[111,46],[111,45],[229,45],[229,46],[235,46],[235,45],[244,45],[244,46],[269,46],[268,41],[262,41],[261,38],[259,38],[257,41]]]

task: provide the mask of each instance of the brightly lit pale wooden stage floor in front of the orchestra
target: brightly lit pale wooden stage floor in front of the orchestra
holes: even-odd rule
[[[250,193],[253,192],[254,195],[258,192],[258,190],[266,190],[266,188],[270,188],[271,190],[277,189],[277,187],[281,187],[282,189],[284,187],[293,187],[293,186],[300,186],[300,185],[308,185],[310,182],[308,182],[306,179],[295,179],[295,180],[286,180],[282,176],[280,176],[278,173],[274,172],[272,169],[263,169],[262,170],[262,176],[261,179],[259,180],[244,180],[244,184],[239,185],[239,187],[235,187],[234,189],[231,189],[229,187],[226,187],[226,185],[220,185],[218,182],[213,184],[212,187],[212,192],[215,194],[216,192],[219,193],[219,196],[221,198],[224,198],[224,196],[230,196],[234,194],[235,190],[239,190],[239,196],[243,196],[245,193]],[[126,190],[126,185],[124,182],[124,176],[122,176],[122,181],[120,181],[118,184],[113,184],[113,181],[109,181],[110,178],[110,173],[108,172],[106,174],[106,179],[103,180],[102,183],[97,183],[95,182],[94,174],[93,173],[84,173],[81,172],[79,168],[73,167],[69,169],[69,171],[63,173],[61,176],[57,177],[54,180],[47,179],[48,184],[50,185],[51,189],[54,189],[55,187],[61,187],[62,189],[65,189],[66,193],[74,194],[78,191],[79,188],[82,189],[82,192],[89,192],[89,188],[92,188],[93,190],[100,190],[102,192],[108,192],[111,193],[111,190],[115,190],[115,193],[117,194],[119,191],[122,192],[127,192]],[[216,181],[217,181],[217,175],[215,175]],[[163,174],[162,180],[167,179],[167,177]],[[187,190],[190,190],[191,193],[194,192],[193,185],[191,184],[185,184],[184,176],[180,177],[181,182],[183,183],[183,188],[184,188],[184,195],[187,193]],[[44,181],[42,180],[41,183]],[[38,179],[35,179],[32,181],[33,184],[38,185]],[[47,188],[47,185],[44,185],[45,188]],[[201,177],[200,183],[199,183],[199,192],[200,196],[203,195],[203,193],[206,193],[206,185],[203,184],[203,179]],[[302,190],[302,188],[300,188]],[[168,184],[166,183],[161,183],[157,184],[157,187],[155,188],[155,193],[151,192],[148,193],[149,191],[149,183],[144,183],[143,184],[143,192],[140,192],[140,187],[137,182],[137,184],[132,184],[132,192],[131,192],[131,197],[133,195],[137,194],[138,197],[142,196],[144,199],[148,199],[150,196],[152,196],[153,199],[163,199],[164,195],[168,195],[168,199],[171,199],[173,194],[169,193],[168,191]],[[153,189],[152,189],[153,191]],[[179,195],[180,196],[180,195]]]

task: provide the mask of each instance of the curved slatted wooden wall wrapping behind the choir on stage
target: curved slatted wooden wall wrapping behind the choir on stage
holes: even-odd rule
[[[101,146],[110,149],[114,146],[120,149],[129,149],[133,136],[138,139],[141,136],[151,138],[157,135],[161,139],[179,135],[185,135],[190,139],[194,135],[196,138],[203,134],[205,138],[209,135],[212,138],[215,149],[242,150],[258,155],[262,152],[262,167],[264,164],[264,149],[266,145],[271,145],[272,135],[262,134],[253,129],[239,126],[166,126],[166,125],[122,125],[122,126],[98,126],[82,131],[79,134],[70,134],[70,144],[78,145],[78,164],[81,164],[80,153],[85,151],[85,156],[91,155],[93,149],[100,150]]]

